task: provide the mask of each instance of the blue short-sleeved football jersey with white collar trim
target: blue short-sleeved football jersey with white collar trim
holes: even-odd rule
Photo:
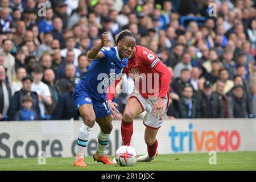
[[[85,76],[77,86],[85,90],[94,100],[104,102],[106,90],[127,66],[128,58],[120,60],[117,47],[104,47],[102,59],[94,59]]]

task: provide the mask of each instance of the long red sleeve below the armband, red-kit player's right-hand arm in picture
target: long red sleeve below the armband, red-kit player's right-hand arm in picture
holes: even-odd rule
[[[158,63],[154,65],[153,69],[159,73],[160,85],[159,85],[158,97],[166,98],[166,94],[170,90],[170,81],[171,81],[172,73],[161,61],[158,61]]]

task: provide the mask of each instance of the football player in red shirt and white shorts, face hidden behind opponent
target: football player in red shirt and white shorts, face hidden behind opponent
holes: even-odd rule
[[[131,77],[135,85],[123,113],[121,124],[123,144],[130,145],[131,135],[133,135],[133,119],[146,110],[143,123],[146,126],[144,140],[148,154],[139,156],[137,161],[150,162],[158,155],[156,134],[166,117],[169,105],[171,72],[150,49],[134,46],[123,73]],[[116,80],[107,93],[107,101],[114,118],[115,113],[119,111],[115,108],[117,104],[112,102],[112,98],[119,81],[120,79]]]

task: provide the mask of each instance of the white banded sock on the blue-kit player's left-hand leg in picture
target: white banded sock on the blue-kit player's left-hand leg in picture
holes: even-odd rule
[[[79,129],[79,137],[77,139],[76,154],[77,154],[77,156],[79,156],[79,158],[84,158],[85,147],[87,146],[90,131],[92,131],[92,128],[88,127],[84,123],[82,123],[82,126]]]

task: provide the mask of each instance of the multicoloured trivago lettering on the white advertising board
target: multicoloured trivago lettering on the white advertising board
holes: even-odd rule
[[[176,131],[176,126],[171,126],[169,137],[171,150],[174,152],[183,152],[184,148],[188,148],[188,152],[236,151],[241,144],[240,133],[237,130],[199,132],[193,130],[192,123],[189,123],[187,131]]]

